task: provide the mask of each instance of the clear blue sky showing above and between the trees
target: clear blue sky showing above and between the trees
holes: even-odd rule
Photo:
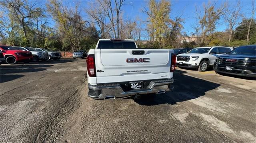
[[[80,6],[84,9],[88,6],[90,0],[63,0],[65,4],[74,7],[76,2],[80,2]],[[126,4],[122,7],[122,12],[124,18],[136,19],[140,18],[143,21],[147,20],[147,15],[142,12],[143,6],[148,6],[149,0],[126,0]],[[171,12],[170,18],[182,15],[184,19],[184,29],[182,32],[186,32],[188,35],[194,31],[192,25],[196,24],[196,6],[200,8],[204,3],[207,4],[209,0],[171,0]],[[44,5],[47,1],[42,0]],[[210,2],[216,2],[216,6],[220,6],[224,0],[210,0]],[[235,5],[236,0],[228,0],[228,4]],[[242,11],[248,14],[248,10],[251,8],[251,0],[240,0]],[[82,15],[86,19],[86,13],[82,10]],[[54,25],[54,22],[50,22]],[[224,31],[227,29],[227,24],[224,20],[220,20],[219,24],[216,26],[216,31]],[[143,39],[142,39],[143,40]]]

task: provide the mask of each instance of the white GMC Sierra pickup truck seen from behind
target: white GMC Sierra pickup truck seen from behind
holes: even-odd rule
[[[176,64],[170,49],[139,49],[134,40],[100,39],[87,57],[88,96],[110,99],[165,93]]]

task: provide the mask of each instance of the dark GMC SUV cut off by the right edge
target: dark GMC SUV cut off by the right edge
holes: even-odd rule
[[[240,46],[217,57],[213,69],[217,73],[256,77],[256,45]]]

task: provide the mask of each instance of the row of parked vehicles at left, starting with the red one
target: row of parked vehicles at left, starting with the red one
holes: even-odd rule
[[[16,64],[17,62],[28,63],[30,61],[46,61],[60,59],[61,53],[48,49],[32,47],[12,47],[0,45],[0,63]]]

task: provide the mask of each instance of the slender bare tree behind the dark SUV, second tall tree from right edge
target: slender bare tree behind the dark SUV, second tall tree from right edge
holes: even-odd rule
[[[229,38],[228,42],[232,40],[233,37],[233,28],[237,24],[238,18],[241,16],[240,15],[240,0],[236,2],[236,6],[229,6],[230,10],[227,14],[224,14],[224,19],[228,23],[229,27]]]

